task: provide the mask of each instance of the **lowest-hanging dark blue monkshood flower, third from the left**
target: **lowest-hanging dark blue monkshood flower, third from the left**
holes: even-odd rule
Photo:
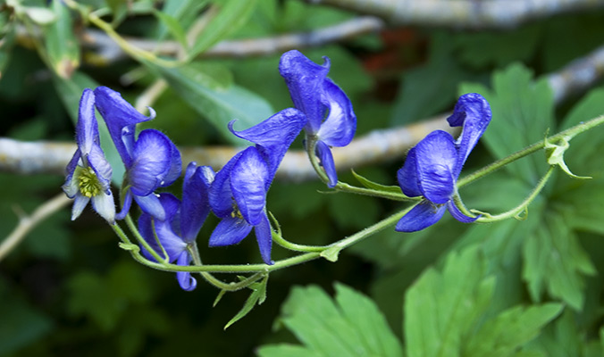
[[[210,213],[207,190],[213,180],[214,170],[211,167],[197,167],[195,162],[189,163],[182,184],[182,202],[172,194],[162,193],[159,202],[164,207],[166,219],[155,220],[146,212],[138,218],[140,235],[162,256],[164,252],[157,244],[159,240],[169,262],[181,266],[191,263],[189,248],[193,247],[197,233]],[[144,247],[141,250],[147,259],[155,260]],[[184,290],[191,291],[197,286],[197,280],[189,272],[179,271],[176,278]]]

